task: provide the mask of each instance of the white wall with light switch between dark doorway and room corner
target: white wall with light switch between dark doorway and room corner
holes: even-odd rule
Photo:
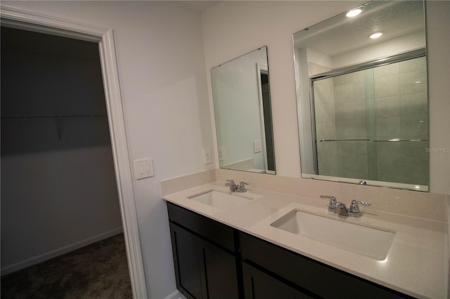
[[[195,173],[213,147],[200,16],[156,1],[2,1],[60,18],[111,28],[130,162],[153,158],[155,177],[134,181],[150,298],[175,290],[167,211],[160,180]]]

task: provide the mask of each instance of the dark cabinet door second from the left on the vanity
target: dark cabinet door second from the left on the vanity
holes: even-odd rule
[[[198,247],[207,298],[239,298],[236,257],[200,238]]]

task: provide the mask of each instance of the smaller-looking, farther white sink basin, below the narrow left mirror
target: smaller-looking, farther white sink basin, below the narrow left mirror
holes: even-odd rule
[[[247,197],[243,194],[233,195],[215,190],[193,194],[188,197],[188,199],[207,204],[208,206],[214,206],[215,208],[220,208],[224,211],[233,210],[252,200],[251,197]]]

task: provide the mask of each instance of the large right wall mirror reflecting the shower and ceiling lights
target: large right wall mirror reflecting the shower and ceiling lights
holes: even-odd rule
[[[425,3],[371,1],[293,46],[302,178],[428,191]]]

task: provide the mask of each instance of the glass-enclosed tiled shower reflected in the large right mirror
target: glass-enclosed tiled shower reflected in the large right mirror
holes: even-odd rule
[[[425,51],[311,78],[316,174],[428,185]]]

